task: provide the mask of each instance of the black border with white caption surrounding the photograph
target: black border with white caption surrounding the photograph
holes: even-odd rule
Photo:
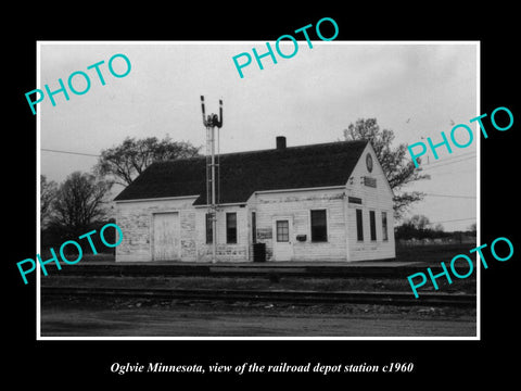
[[[46,4],[47,5],[47,4]],[[84,4],[85,5],[85,4]],[[312,7],[313,5],[313,7]],[[365,387],[377,380],[387,386],[410,383],[412,387],[433,384],[467,387],[481,379],[507,383],[516,374],[517,350],[509,346],[517,340],[517,276],[519,276],[519,234],[510,224],[517,211],[518,173],[516,139],[521,121],[520,85],[516,34],[516,10],[505,4],[487,4],[457,10],[454,4],[417,4],[415,8],[395,3],[371,3],[367,9],[351,3],[318,10],[315,4],[298,9],[267,3],[242,3],[229,9],[204,3],[189,11],[169,4],[54,8],[43,4],[13,12],[15,23],[4,25],[9,55],[4,78],[8,93],[4,104],[4,248],[8,256],[2,263],[3,295],[8,305],[4,323],[8,330],[5,358],[7,376],[18,382],[28,377],[53,384],[80,387],[111,383],[147,384],[165,382],[181,387],[179,380],[217,386],[237,380],[258,383],[305,380],[322,382],[340,380],[345,387],[360,382]],[[321,17],[336,21],[338,40],[479,40],[481,41],[481,113],[507,106],[513,113],[514,125],[508,131],[490,131],[481,142],[481,239],[491,243],[507,237],[514,244],[514,256],[505,263],[492,261],[482,270],[481,341],[36,341],[36,283],[29,278],[24,286],[15,263],[36,253],[36,122],[27,108],[24,93],[36,86],[37,40],[263,40],[272,41],[280,35],[315,24]],[[517,98],[517,97],[516,97]],[[520,118],[520,119],[518,119]],[[490,122],[485,122],[485,125]],[[444,261],[444,260],[441,260]],[[233,375],[204,376],[154,375],[117,376],[109,370],[113,362],[164,362],[168,364],[219,362],[228,365],[243,362],[276,364],[307,362],[350,362],[384,365],[387,362],[414,362],[412,374],[378,376],[344,374],[320,375]],[[10,382],[5,379],[5,382]],[[43,384],[41,384],[43,386]],[[187,387],[185,383],[182,387]]]

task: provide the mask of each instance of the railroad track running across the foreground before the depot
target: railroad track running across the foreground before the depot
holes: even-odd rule
[[[410,292],[318,292],[283,290],[230,289],[170,289],[170,288],[107,288],[107,287],[41,287],[43,297],[132,298],[152,300],[254,301],[325,304],[379,304],[476,306],[475,294],[420,293],[415,299]]]

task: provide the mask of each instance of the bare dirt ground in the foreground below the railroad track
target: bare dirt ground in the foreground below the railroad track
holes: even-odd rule
[[[42,300],[42,337],[475,337],[475,311],[353,304]]]

